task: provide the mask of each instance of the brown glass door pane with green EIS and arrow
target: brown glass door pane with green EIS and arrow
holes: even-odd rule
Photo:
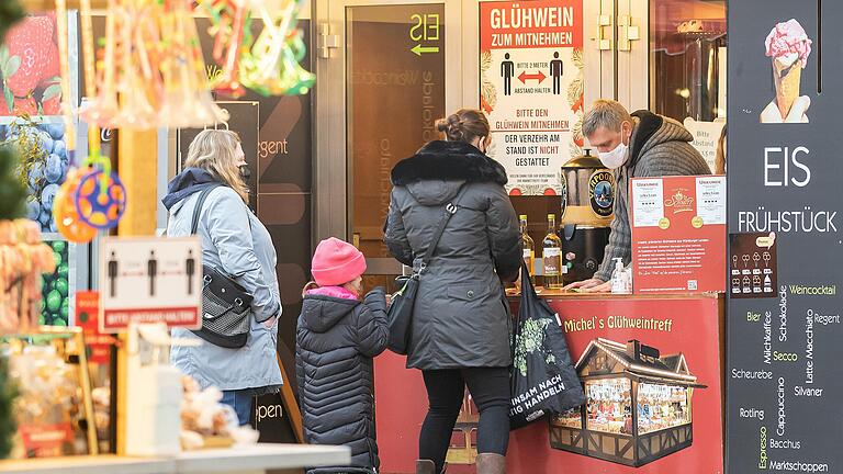
[[[440,137],[436,121],[446,116],[443,25],[443,4],[346,9],[346,123],[353,184],[348,204],[355,244],[367,259],[391,257],[383,244],[390,170]],[[414,54],[414,47],[429,53]]]

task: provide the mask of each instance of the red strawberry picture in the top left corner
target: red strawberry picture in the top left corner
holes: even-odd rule
[[[50,14],[26,16],[7,33],[0,45],[3,115],[59,113],[61,87],[55,33],[56,19]]]

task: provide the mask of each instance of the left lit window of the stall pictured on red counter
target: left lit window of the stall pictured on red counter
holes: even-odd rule
[[[586,422],[592,431],[632,435],[632,383],[604,379],[585,383]]]

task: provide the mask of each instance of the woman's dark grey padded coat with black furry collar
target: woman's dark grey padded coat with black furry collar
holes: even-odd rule
[[[423,370],[508,366],[510,318],[501,280],[521,264],[521,237],[506,172],[462,142],[431,142],[392,170],[385,242],[404,264],[424,255],[464,191],[419,279],[407,365]]]

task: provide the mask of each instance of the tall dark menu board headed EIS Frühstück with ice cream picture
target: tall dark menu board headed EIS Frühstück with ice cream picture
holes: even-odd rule
[[[731,473],[843,472],[841,21],[843,2],[729,4]]]

